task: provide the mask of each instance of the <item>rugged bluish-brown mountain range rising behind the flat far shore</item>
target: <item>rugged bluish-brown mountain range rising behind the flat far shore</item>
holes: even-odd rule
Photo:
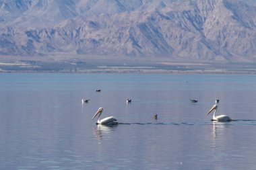
[[[254,1],[2,0],[0,54],[253,61]]]

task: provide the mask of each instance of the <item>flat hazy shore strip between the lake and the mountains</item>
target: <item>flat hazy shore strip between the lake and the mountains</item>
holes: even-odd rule
[[[0,73],[256,74],[253,62],[183,62],[154,58],[1,58]]]

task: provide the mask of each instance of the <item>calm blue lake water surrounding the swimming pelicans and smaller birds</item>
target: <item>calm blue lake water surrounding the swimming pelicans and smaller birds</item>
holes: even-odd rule
[[[0,169],[256,169],[255,75],[3,73],[0,95]]]

